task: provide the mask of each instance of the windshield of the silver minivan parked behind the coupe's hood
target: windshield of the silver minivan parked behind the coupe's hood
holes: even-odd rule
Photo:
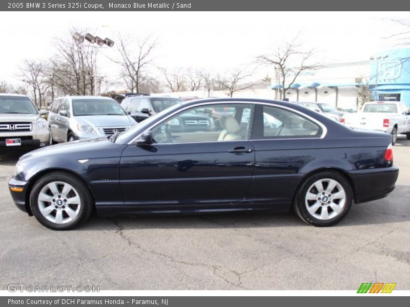
[[[115,100],[73,99],[73,115],[126,115],[126,113]]]

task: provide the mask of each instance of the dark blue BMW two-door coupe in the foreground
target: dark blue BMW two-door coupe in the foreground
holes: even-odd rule
[[[229,112],[213,129],[175,129],[175,119],[204,108]],[[294,208],[304,222],[330,226],[353,203],[393,191],[391,142],[294,103],[196,100],[108,138],[31,151],[9,188],[19,209],[60,230],[94,209],[114,216]]]

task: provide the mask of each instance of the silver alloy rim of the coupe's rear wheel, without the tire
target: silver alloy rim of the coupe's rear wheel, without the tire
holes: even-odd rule
[[[320,179],[313,183],[305,195],[308,212],[318,220],[331,220],[343,211],[346,192],[334,179]]]

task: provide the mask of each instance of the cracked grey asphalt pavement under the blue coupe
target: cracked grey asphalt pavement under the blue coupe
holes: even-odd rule
[[[0,289],[356,290],[396,282],[410,290],[410,141],[387,198],[354,205],[329,228],[290,213],[99,218],[52,231],[19,211],[7,188],[18,155],[0,155]]]

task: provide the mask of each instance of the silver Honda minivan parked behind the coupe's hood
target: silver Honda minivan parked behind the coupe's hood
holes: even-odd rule
[[[47,118],[50,144],[110,136],[136,124],[114,100],[100,96],[62,96]]]

